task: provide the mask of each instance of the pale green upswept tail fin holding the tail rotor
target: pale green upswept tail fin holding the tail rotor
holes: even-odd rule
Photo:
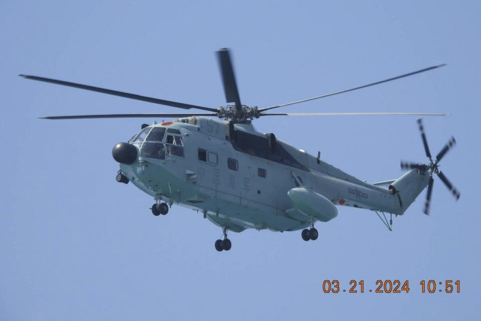
[[[389,185],[391,194],[397,195],[399,198],[402,213],[407,210],[422,190],[426,188],[429,184],[429,177],[428,171],[413,169]]]

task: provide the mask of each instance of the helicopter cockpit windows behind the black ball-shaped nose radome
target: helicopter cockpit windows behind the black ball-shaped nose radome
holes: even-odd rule
[[[183,137],[175,128],[146,127],[129,143],[139,147],[140,157],[165,159],[166,151],[168,155],[184,156]]]

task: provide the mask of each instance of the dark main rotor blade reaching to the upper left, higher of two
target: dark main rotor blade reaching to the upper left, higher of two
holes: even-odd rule
[[[124,98],[130,98],[130,99],[152,102],[154,104],[159,104],[159,105],[172,106],[172,107],[177,107],[177,108],[182,108],[182,109],[196,108],[196,109],[208,110],[208,111],[213,111],[213,112],[217,111],[217,109],[215,109],[215,108],[208,108],[208,107],[184,104],[184,103],[176,102],[176,101],[170,101],[170,100],[163,100],[163,99],[158,99],[158,98],[140,96],[140,95],[136,95],[136,94],[129,94],[129,93],[123,92],[123,91],[105,89],[105,88],[94,87],[94,86],[89,86],[89,85],[82,85],[82,84],[63,81],[63,80],[57,80],[57,79],[51,79],[51,78],[45,78],[45,77],[38,77],[38,76],[30,76],[30,75],[19,75],[19,76],[24,77],[26,79],[50,82],[52,84],[57,84],[57,85],[75,87],[75,88],[80,88],[80,89],[85,89],[85,90],[91,90],[91,91],[101,92],[101,93],[104,93],[104,94],[120,96],[120,97],[124,97]]]

